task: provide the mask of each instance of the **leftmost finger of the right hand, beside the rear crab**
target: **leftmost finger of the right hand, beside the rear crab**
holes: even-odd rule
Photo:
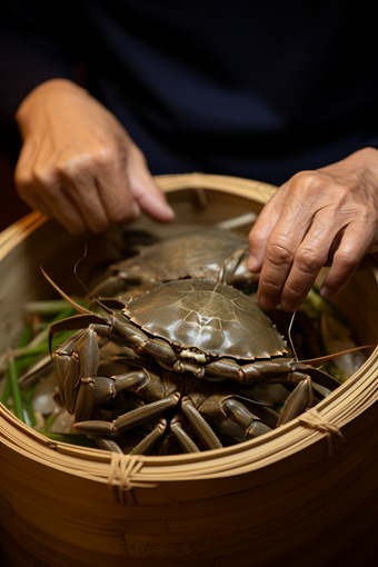
[[[288,187],[282,186],[267,202],[260,212],[253,228],[249,232],[249,258],[247,268],[252,273],[261,270],[268,239],[276,227],[287,196]]]

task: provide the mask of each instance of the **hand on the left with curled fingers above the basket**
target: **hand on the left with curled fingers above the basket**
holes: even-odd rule
[[[84,89],[47,81],[21,102],[16,120],[23,139],[19,195],[70,232],[102,232],[140,210],[159,221],[173,218],[143,153]]]

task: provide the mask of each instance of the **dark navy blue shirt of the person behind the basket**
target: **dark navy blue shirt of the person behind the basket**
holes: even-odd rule
[[[378,147],[374,4],[16,1],[2,14],[0,120],[52,78],[123,123],[152,173],[280,185]]]

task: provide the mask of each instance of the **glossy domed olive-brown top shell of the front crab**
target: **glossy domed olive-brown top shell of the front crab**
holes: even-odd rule
[[[218,282],[185,279],[162,284],[130,300],[123,314],[142,330],[172,345],[181,359],[252,361],[286,352],[284,338],[257,302]]]

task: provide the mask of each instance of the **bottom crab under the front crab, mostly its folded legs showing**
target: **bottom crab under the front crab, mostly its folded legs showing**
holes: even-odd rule
[[[135,409],[112,422],[103,420],[103,404],[116,396],[131,402]],[[252,400],[246,404],[245,398],[240,401],[232,388],[219,388],[208,381],[182,377],[145,361],[143,366],[137,366],[125,375],[97,377],[94,419],[79,421],[74,427],[93,437],[99,447],[116,452],[120,452],[120,447],[128,442],[127,432],[143,427],[150,432],[145,434],[146,437],[131,454],[148,454],[167,429],[167,419],[160,416],[169,412],[168,437],[176,439],[182,452],[221,448],[220,438],[225,435],[231,437],[232,442],[238,437],[239,441],[252,439],[270,431],[279,420],[279,414],[267,405]],[[96,419],[97,415],[100,419]],[[230,428],[230,422],[237,427]],[[225,431],[219,424],[227,426],[228,430]],[[215,427],[219,436],[213,431]]]

